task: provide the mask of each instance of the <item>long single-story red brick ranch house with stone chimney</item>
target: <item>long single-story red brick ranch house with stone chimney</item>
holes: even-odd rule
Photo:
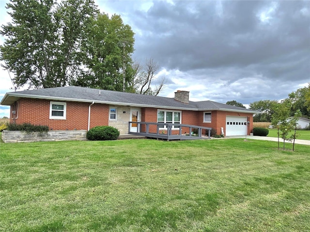
[[[137,131],[137,123],[128,122],[152,122],[172,123],[176,133],[175,124],[188,124],[214,128],[225,136],[246,135],[257,113],[218,102],[192,102],[188,91],[178,90],[174,98],[167,98],[76,86],[8,92],[1,105],[11,106],[12,123],[47,125],[49,130],[112,126],[120,134]]]

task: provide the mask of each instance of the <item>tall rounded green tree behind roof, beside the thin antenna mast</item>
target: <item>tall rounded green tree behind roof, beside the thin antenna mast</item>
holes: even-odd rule
[[[85,58],[83,75],[72,81],[72,85],[123,90],[133,76],[132,58],[134,51],[134,32],[123,23],[119,15],[96,14],[87,31],[87,39],[82,43]],[[124,72],[125,71],[125,72]]]

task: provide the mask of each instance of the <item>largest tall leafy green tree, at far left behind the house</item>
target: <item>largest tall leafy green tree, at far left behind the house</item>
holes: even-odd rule
[[[81,42],[98,10],[93,0],[10,0],[3,25],[3,67],[20,87],[61,87],[81,74]]]

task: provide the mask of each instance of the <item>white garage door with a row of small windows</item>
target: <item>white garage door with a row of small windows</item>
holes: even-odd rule
[[[226,116],[226,136],[246,135],[247,117]]]

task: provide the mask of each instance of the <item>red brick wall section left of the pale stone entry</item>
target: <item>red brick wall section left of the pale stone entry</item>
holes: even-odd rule
[[[88,102],[66,102],[66,119],[49,119],[49,100],[20,99],[18,102],[18,117],[16,123],[31,123],[46,125],[51,130],[87,130]],[[12,112],[13,106],[11,106]],[[12,113],[11,113],[12,116]],[[109,121],[109,105],[93,104],[91,106],[90,128],[107,126]],[[13,119],[11,119],[13,122]]]

